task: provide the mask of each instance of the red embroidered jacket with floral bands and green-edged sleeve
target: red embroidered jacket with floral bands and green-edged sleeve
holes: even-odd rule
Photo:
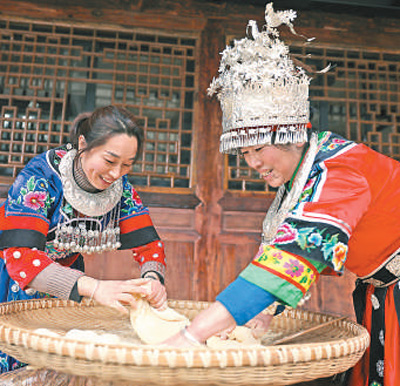
[[[240,274],[295,307],[319,274],[362,277],[400,248],[400,164],[331,132],[298,203]]]

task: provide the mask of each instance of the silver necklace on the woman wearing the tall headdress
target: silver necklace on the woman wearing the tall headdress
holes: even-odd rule
[[[279,226],[284,222],[289,212],[294,208],[300,198],[300,194],[307,182],[315,156],[318,152],[318,136],[316,133],[311,135],[310,147],[307,150],[304,162],[302,163],[290,189],[290,192],[285,194],[285,185],[281,185],[276,193],[275,199],[268,209],[268,212],[263,221],[262,243],[270,244],[276,236]]]

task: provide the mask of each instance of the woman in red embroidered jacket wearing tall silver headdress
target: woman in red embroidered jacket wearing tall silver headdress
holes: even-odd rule
[[[296,307],[320,274],[358,276],[357,320],[371,348],[348,384],[400,385],[400,164],[332,132],[312,132],[309,77],[295,67],[276,30],[293,11],[266,8],[266,26],[235,41],[210,92],[223,111],[221,151],[239,154],[279,188],[251,263],[165,343],[202,344],[232,326],[268,328],[273,303]],[[282,306],[279,306],[281,309]],[[397,313],[396,313],[397,308]]]

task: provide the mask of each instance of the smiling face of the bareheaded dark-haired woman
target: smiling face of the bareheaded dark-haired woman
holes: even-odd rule
[[[86,147],[83,136],[79,138],[79,150]],[[131,169],[137,152],[135,136],[117,134],[101,146],[84,151],[82,168],[89,182],[97,189],[107,189]]]

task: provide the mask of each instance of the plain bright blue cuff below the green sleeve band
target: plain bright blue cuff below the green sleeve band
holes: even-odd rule
[[[270,306],[276,297],[239,277],[226,287],[216,300],[224,305],[241,326]]]

